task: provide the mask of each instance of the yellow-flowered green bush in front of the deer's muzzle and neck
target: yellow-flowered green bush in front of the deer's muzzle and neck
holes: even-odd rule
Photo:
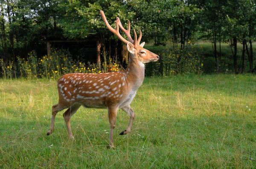
[[[145,70],[148,76],[203,73],[201,47],[191,45],[190,42],[184,48],[162,48],[157,54],[160,56],[159,62],[151,63]]]

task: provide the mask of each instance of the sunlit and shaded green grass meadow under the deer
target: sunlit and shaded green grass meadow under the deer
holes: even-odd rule
[[[106,110],[80,108],[67,137],[62,113],[47,136],[55,80],[0,80],[0,168],[256,168],[256,76],[146,78],[119,111],[108,149]]]

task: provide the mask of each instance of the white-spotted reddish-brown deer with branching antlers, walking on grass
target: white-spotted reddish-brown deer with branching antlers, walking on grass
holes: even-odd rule
[[[116,17],[116,28],[112,28],[108,23],[103,11],[100,11],[102,19],[107,28],[127,44],[130,53],[128,66],[124,71],[108,73],[69,73],[61,76],[57,81],[58,104],[52,106],[52,116],[50,129],[47,135],[54,130],[56,114],[64,109],[63,117],[67,126],[67,133],[73,139],[70,127],[70,118],[76,113],[79,107],[103,108],[108,110],[108,120],[110,124],[109,146],[114,147],[113,133],[116,127],[116,115],[119,109],[125,111],[130,116],[126,130],[119,135],[126,135],[131,132],[131,127],[135,118],[134,110],[130,104],[134,99],[137,89],[142,85],[145,77],[145,63],[159,60],[157,54],[143,48],[145,42],[140,44],[142,32],[137,39],[134,29],[134,39],[130,34],[130,21],[128,29],[122,26],[119,17]],[[128,40],[121,36],[119,28],[126,34]]]

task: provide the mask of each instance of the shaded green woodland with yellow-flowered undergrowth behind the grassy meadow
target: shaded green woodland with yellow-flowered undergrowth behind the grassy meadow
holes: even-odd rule
[[[161,57],[148,66],[148,76],[254,73],[255,1],[0,0],[1,76],[22,77],[35,71],[34,77],[45,77],[39,69],[63,74],[68,72],[65,68],[75,72],[125,68],[126,47],[106,28],[100,10],[113,27],[118,16],[124,27],[130,20],[132,29],[142,30],[146,48]],[[58,57],[66,59],[53,63]],[[40,67],[44,59],[48,70]],[[65,67],[66,61],[70,65]]]

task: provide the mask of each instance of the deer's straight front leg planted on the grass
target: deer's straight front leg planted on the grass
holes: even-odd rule
[[[118,108],[109,108],[108,107],[108,120],[110,124],[110,134],[109,134],[109,146],[111,148],[114,147],[113,145],[113,135],[114,135],[114,129],[116,127],[116,113]]]

